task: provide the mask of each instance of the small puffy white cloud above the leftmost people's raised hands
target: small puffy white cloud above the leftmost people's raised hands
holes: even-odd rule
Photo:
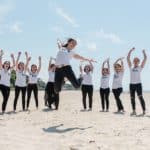
[[[10,31],[14,32],[14,33],[22,33],[23,30],[22,30],[21,26],[22,26],[22,23],[16,21],[13,25],[10,26]]]

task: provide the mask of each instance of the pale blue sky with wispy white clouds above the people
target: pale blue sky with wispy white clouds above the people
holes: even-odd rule
[[[142,72],[144,90],[150,90],[150,1],[143,0],[0,0],[0,47],[5,59],[10,53],[26,50],[32,63],[42,56],[40,77],[47,81],[47,66],[50,56],[58,51],[56,39],[65,41],[68,37],[78,40],[75,49],[85,57],[94,58],[94,86],[99,88],[100,67],[104,59],[110,58],[111,66],[118,57],[126,57],[133,46],[133,54],[143,58],[141,50],[148,54],[147,64]],[[24,60],[24,57],[22,57]],[[79,61],[72,66],[79,74]],[[128,89],[129,70],[125,60],[124,89]],[[113,69],[111,69],[112,83]]]

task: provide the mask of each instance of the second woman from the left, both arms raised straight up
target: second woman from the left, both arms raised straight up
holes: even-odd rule
[[[22,93],[22,110],[25,111],[25,99],[26,99],[26,89],[27,89],[27,69],[29,61],[31,57],[28,57],[28,53],[26,55],[26,64],[24,62],[19,62],[21,52],[18,53],[18,57],[16,60],[16,82],[15,82],[15,99],[14,99],[14,111],[16,111],[17,101]]]

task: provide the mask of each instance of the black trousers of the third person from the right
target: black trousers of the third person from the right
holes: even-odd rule
[[[105,104],[106,104],[106,110],[109,109],[109,94],[110,94],[109,88],[107,88],[107,89],[100,88],[102,110],[105,109]]]

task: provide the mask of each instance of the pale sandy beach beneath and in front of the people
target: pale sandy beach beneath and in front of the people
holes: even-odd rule
[[[94,93],[93,111],[81,112],[80,91],[63,91],[58,111],[44,107],[43,92],[39,93],[39,110],[31,101],[31,111],[22,112],[19,99],[17,113],[12,113],[14,92],[8,102],[8,113],[0,116],[0,150],[149,150],[150,101],[145,117],[130,117],[129,94],[122,100],[126,113],[115,114],[115,100],[110,96],[110,112],[101,109],[99,93]],[[2,100],[1,100],[2,101]],[[141,107],[137,99],[137,112]]]

